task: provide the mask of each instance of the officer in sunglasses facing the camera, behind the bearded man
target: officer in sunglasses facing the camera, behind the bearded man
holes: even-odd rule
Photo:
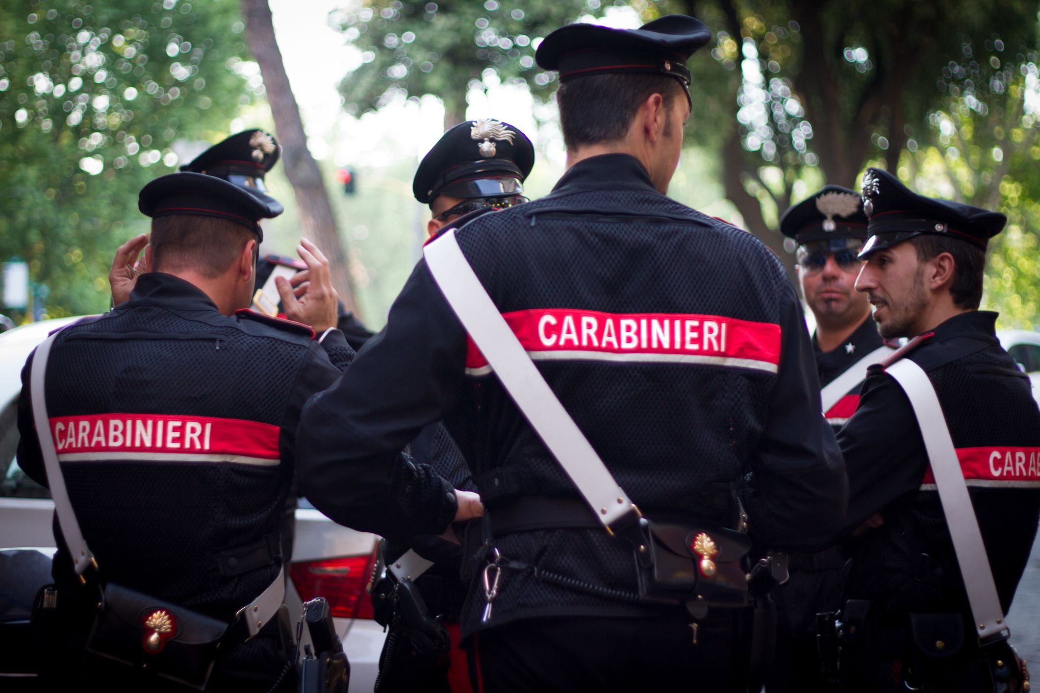
[[[824,417],[841,428],[859,401],[866,367],[886,347],[870,320],[866,295],[855,290],[866,240],[866,215],[858,193],[828,185],[780,218],[780,231],[798,243],[798,276],[815,318],[812,346],[823,389]],[[848,375],[846,375],[848,373]],[[816,614],[834,611],[841,597],[844,558],[836,548],[788,557],[789,579],[773,593],[776,650],[765,687],[770,693],[826,690],[816,647]]]

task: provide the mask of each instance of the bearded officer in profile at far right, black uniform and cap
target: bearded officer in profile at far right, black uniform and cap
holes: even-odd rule
[[[1040,411],[997,342],[996,314],[978,310],[986,244],[1006,218],[917,195],[877,168],[864,176],[863,197],[870,238],[856,289],[874,304],[882,337],[913,339],[869,369],[838,433],[849,467],[846,535],[860,535],[840,617],[842,679],[850,691],[1022,690],[1000,686],[998,669],[1013,663],[992,656],[999,639],[980,646],[962,580],[962,568],[974,574],[988,559],[1007,613],[1040,516]],[[938,395],[968,507],[940,505],[921,428],[885,371],[904,358]],[[971,512],[985,553],[963,565],[946,518]]]

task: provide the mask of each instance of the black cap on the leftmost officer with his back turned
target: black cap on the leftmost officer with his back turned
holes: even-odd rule
[[[151,181],[137,196],[137,208],[146,216],[201,214],[230,219],[254,231],[260,240],[259,219],[282,213],[282,204],[259,190],[240,187],[203,174],[170,174]]]

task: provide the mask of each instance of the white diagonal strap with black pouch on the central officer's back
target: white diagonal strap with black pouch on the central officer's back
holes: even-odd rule
[[[510,329],[466,261],[454,230],[423,254],[434,281],[469,337],[494,369],[520,411],[612,535],[632,547],[639,567],[640,597],[685,604],[695,617],[709,606],[747,606],[748,584],[742,560],[750,541],[733,530],[654,522],[644,518]],[[489,608],[485,619],[490,617]]]

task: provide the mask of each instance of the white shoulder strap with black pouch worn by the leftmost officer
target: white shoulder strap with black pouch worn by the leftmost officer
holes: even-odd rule
[[[239,609],[231,622],[113,582],[105,583],[97,580],[97,576],[87,585],[85,574],[92,568],[97,571],[98,562],[83,539],[79,522],[69,501],[69,491],[47,416],[44,392],[47,361],[55,336],[44,340],[33,356],[30,375],[32,414],[47,480],[54,499],[54,511],[74,569],[84,589],[98,590],[98,611],[86,641],[86,649],[142,672],[202,690],[209,681],[220,646],[249,640],[278,614],[285,596],[284,572],[279,570],[275,581],[256,599]],[[42,625],[53,620],[56,596],[53,589],[48,592],[45,588],[41,592],[33,619]]]

